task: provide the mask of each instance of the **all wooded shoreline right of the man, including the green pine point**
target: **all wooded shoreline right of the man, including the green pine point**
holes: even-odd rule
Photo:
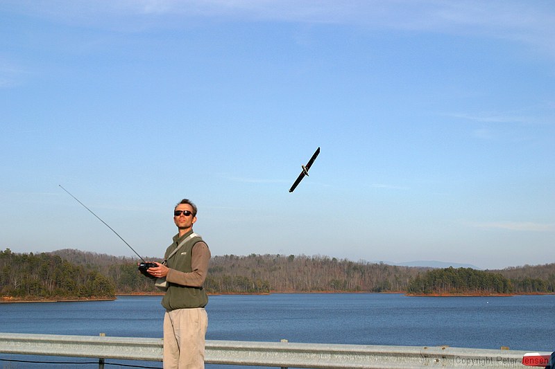
[[[327,256],[216,256],[207,287],[220,293],[366,291],[409,294],[555,293],[555,264],[501,271],[432,269]]]

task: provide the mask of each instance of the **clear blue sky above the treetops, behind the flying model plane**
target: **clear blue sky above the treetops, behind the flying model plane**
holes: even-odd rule
[[[555,262],[552,1],[0,3],[0,249]],[[317,147],[321,153],[292,193]]]

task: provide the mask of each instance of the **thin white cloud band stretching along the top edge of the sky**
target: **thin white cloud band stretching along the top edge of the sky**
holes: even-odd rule
[[[555,58],[555,12],[549,2],[531,6],[521,1],[448,0],[7,0],[1,7],[72,24],[112,22],[110,27],[137,17],[158,19],[151,27],[167,26],[168,18],[182,24],[182,19],[208,17],[485,36],[527,44]]]

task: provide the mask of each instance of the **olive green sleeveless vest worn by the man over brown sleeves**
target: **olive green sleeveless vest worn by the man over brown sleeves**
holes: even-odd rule
[[[192,271],[191,250],[197,242],[203,241],[203,239],[196,233],[194,233],[192,237],[189,237],[191,234],[193,234],[193,231],[182,235],[178,240],[174,239],[173,244],[168,247],[164,255],[165,258],[167,258],[171,251],[176,249],[182,240],[188,237],[188,240],[185,241],[185,244],[180,247],[178,252],[167,259],[167,267],[178,271],[184,271],[185,273],[190,273]],[[205,307],[208,303],[208,296],[203,287],[188,287],[171,282],[168,284],[169,287],[166,291],[166,295],[162,298],[162,306],[167,310]]]

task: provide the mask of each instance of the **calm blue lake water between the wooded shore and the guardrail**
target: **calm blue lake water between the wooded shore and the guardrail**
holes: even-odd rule
[[[450,345],[553,351],[555,296],[408,297],[401,294],[210,296],[210,340]],[[162,337],[160,297],[90,303],[0,304],[0,332]],[[551,328],[550,328],[551,327]],[[0,354],[0,359],[29,359]],[[42,357],[44,361],[59,358]],[[78,359],[69,359],[76,361]],[[114,361],[111,361],[114,362]],[[119,361],[121,362],[121,361]],[[137,364],[132,361],[128,363]],[[161,363],[146,362],[161,367]],[[68,368],[0,362],[2,368]],[[97,368],[98,366],[88,366]],[[117,368],[107,366],[107,368]],[[238,366],[207,366],[212,369]],[[244,367],[253,368],[253,367]]]

